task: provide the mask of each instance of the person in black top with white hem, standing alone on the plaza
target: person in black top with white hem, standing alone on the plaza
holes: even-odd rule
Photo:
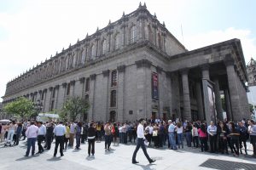
[[[94,156],[95,154],[95,137],[96,137],[96,128],[94,127],[94,123],[90,123],[90,127],[88,128],[88,156]]]

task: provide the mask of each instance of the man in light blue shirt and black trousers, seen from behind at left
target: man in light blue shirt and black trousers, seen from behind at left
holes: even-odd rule
[[[57,150],[60,144],[60,153],[61,156],[64,156],[63,154],[63,148],[64,148],[64,134],[66,133],[66,127],[63,126],[63,122],[60,122],[54,129],[55,133],[55,153],[54,156],[57,154]]]

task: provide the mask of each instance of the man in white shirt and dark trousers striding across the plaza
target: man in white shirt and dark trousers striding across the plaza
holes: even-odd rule
[[[136,156],[137,156],[137,151],[140,149],[140,147],[142,147],[143,153],[147,157],[149,163],[153,163],[155,161],[148,156],[148,152],[144,144],[144,139],[145,139],[144,124],[145,124],[145,120],[143,118],[140,119],[139,125],[137,126],[137,146],[132,155],[132,160],[131,160],[132,163],[139,163],[138,161],[136,161]]]

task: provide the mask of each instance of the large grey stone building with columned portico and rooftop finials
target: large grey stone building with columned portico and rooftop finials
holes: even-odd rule
[[[183,120],[249,116],[241,42],[232,39],[188,51],[140,4],[44,63],[8,82],[3,105],[25,96],[60,109],[79,95],[90,101],[88,120]],[[214,93],[213,93],[214,92]]]

